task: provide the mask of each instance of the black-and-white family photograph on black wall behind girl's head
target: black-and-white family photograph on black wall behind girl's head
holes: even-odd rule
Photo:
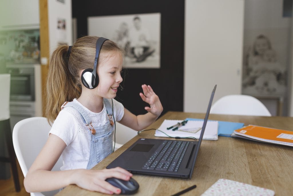
[[[115,41],[126,68],[160,68],[160,13],[88,17],[88,35]]]

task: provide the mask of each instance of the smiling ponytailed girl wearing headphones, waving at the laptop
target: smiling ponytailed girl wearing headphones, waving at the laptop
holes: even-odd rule
[[[25,177],[27,192],[56,190],[70,184],[107,194],[121,192],[105,179],[129,180],[130,172],[118,167],[89,170],[113,151],[113,121],[142,130],[163,111],[159,97],[145,84],[139,95],[150,107],[145,107],[148,113],[144,115],[130,113],[113,99],[122,82],[122,56],[113,41],[93,36],[79,38],[72,47],[62,45],[53,52],[45,115],[54,123],[47,143]],[[94,79],[88,80],[91,72]],[[51,171],[60,156],[61,171]]]

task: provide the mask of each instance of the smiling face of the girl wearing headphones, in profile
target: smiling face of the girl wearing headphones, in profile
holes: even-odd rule
[[[100,56],[102,61],[98,65],[99,84],[97,93],[107,99],[115,98],[117,88],[122,82],[122,54],[118,51],[108,52]]]

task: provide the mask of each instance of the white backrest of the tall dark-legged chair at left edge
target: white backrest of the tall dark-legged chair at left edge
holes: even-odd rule
[[[9,98],[10,98],[10,74],[0,74],[0,120],[7,120],[10,118],[9,112]]]

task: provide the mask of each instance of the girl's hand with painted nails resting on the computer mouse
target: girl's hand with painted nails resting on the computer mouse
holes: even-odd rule
[[[121,190],[105,180],[110,177],[119,178],[122,180],[130,180],[132,173],[122,169],[121,167],[115,167],[113,169],[103,170],[84,170],[80,169],[74,174],[74,184],[90,191],[101,192],[112,195],[120,194]]]

